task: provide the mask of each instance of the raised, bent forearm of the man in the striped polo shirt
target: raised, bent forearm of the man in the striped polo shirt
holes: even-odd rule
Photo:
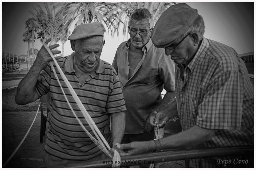
[[[41,69],[32,66],[26,76],[21,80],[17,87],[15,101],[17,104],[28,104],[38,99],[35,85],[39,77]]]

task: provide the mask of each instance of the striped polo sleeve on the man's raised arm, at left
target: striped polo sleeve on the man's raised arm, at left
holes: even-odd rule
[[[51,67],[48,65],[45,70],[42,70],[35,85],[36,92],[39,96],[43,96],[50,91],[51,82]]]

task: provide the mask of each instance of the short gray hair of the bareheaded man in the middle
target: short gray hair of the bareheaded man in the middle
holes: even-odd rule
[[[135,21],[140,21],[140,20],[144,20],[147,19],[147,21],[149,22],[149,27],[154,27],[154,20],[152,18],[151,13],[149,12],[149,10],[147,8],[138,8],[136,10],[134,10],[134,12],[131,14],[128,25],[130,25],[132,20]]]

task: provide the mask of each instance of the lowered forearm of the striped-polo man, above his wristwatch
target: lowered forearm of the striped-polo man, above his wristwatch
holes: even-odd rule
[[[125,133],[125,112],[111,114],[112,143],[121,143]]]

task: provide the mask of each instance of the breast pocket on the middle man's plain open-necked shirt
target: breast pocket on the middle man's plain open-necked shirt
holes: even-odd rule
[[[158,72],[156,70],[151,70],[146,67],[141,67],[138,74],[138,82],[140,84],[152,83],[157,79]]]

